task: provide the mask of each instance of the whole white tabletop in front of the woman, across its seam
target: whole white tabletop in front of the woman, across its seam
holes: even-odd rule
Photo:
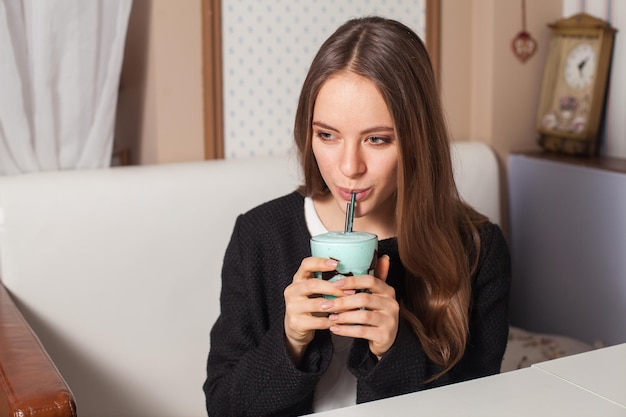
[[[605,369],[605,366],[626,361],[626,344],[575,356],[568,361],[558,359],[544,362],[541,367],[537,365],[315,415],[626,417],[626,405],[622,402],[626,373],[619,367],[610,372]],[[586,369],[590,369],[589,375]]]

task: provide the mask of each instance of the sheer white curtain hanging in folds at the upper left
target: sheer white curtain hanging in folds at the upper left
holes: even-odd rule
[[[0,175],[110,166],[132,0],[0,0]]]

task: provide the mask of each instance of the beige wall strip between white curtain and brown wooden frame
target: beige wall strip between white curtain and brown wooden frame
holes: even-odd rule
[[[204,159],[201,1],[133,1],[116,135],[133,164]]]

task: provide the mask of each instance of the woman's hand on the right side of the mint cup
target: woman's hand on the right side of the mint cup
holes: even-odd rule
[[[382,256],[376,266],[378,278],[364,275],[335,281],[333,285],[344,293],[356,293],[325,300],[322,305],[326,311],[333,312],[328,317],[331,332],[369,340],[370,351],[379,359],[391,348],[398,334],[400,306],[395,290],[385,282],[388,272],[389,257]]]

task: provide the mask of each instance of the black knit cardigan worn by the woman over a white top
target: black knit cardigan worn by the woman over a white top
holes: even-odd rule
[[[400,322],[391,349],[378,362],[366,340],[352,345],[348,368],[357,378],[357,403],[498,373],[508,336],[510,258],[498,226],[481,227],[479,265],[472,277],[470,335],[461,361],[440,369]],[[211,330],[204,384],[210,416],[292,416],[311,413],[315,385],[332,356],[329,331],[317,331],[296,367],[284,341],[283,291],[311,255],[303,197],[293,192],[238,217],[222,271],[221,314]],[[382,240],[391,257],[387,282],[401,300],[404,268],[395,239]],[[209,277],[216,279],[216,277]]]

